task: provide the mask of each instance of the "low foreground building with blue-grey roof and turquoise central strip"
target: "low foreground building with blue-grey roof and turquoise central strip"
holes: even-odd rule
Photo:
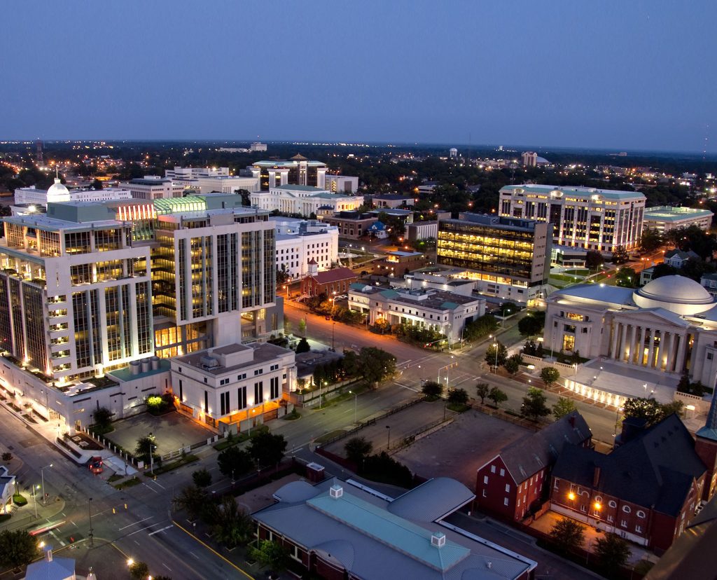
[[[260,540],[328,580],[528,580],[537,564],[444,521],[475,495],[456,480],[429,480],[398,498],[364,485],[305,480],[279,488],[252,513]]]

